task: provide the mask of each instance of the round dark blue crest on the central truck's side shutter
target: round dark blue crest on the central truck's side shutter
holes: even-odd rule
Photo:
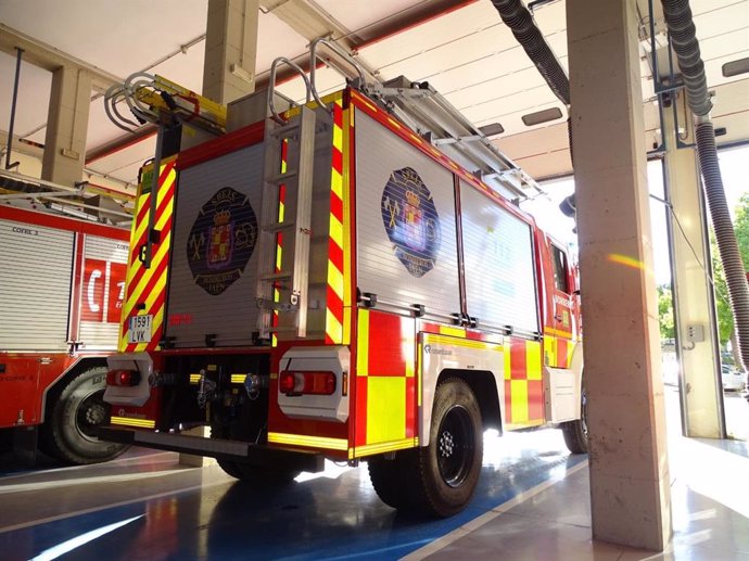
[[[436,264],[442,244],[440,216],[432,193],[411,167],[397,169],[382,192],[382,224],[395,256],[412,277],[423,277]]]

